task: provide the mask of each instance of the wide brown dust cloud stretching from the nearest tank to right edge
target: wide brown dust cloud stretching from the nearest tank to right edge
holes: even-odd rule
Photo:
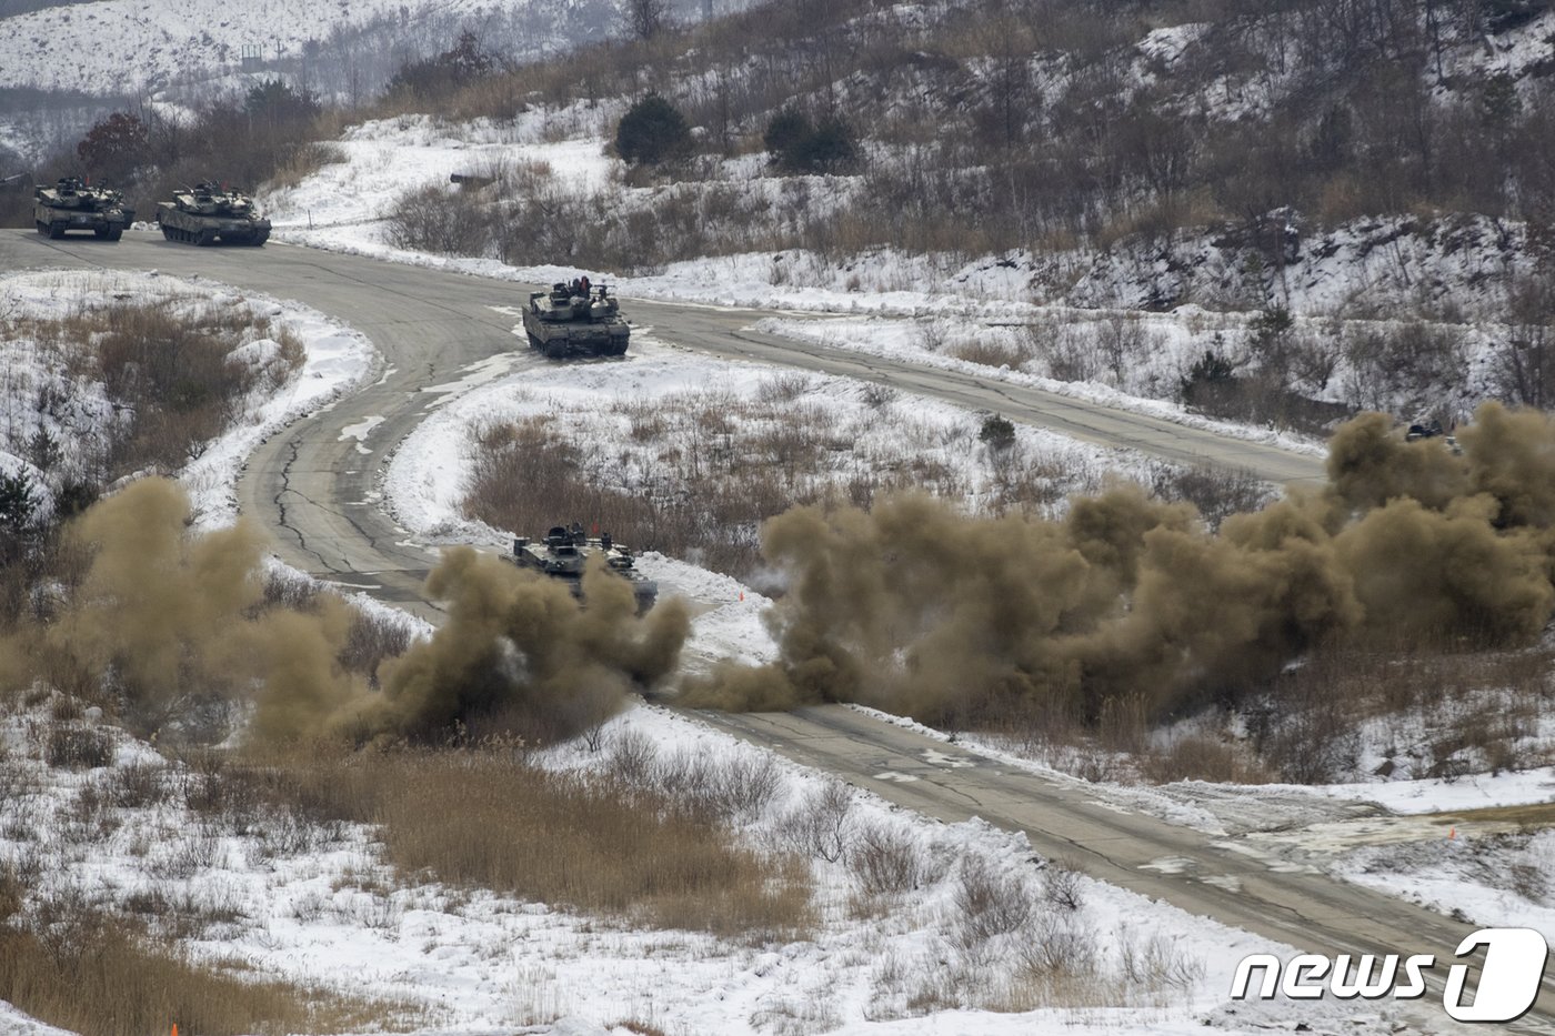
[[[930,722],[1009,708],[1163,716],[1236,695],[1325,642],[1527,642],[1555,610],[1555,425],[1483,406],[1406,443],[1386,415],[1334,436],[1328,485],[1210,534],[1118,487],[1062,520],[980,518],[927,495],[796,509],[764,527],[788,593],[781,660],[726,664],[684,700],[860,702]]]

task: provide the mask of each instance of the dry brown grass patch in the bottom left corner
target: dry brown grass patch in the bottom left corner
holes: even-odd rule
[[[151,947],[123,916],[45,904],[36,929],[0,929],[0,1000],[82,1036],[414,1028],[404,1005],[229,974]]]

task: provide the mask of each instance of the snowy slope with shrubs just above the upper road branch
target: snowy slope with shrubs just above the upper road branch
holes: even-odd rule
[[[337,143],[345,162],[263,201],[281,240],[550,283],[578,271],[532,247],[518,247],[507,263],[401,249],[392,215],[420,190],[457,198],[451,173],[519,177],[524,170],[554,196],[600,210],[650,210],[664,188],[624,185],[624,165],[605,154],[616,117],[616,104],[574,104],[540,106],[507,124],[432,117],[364,123]],[[782,191],[781,177],[748,159],[731,160],[728,176],[746,177],[751,193]],[[826,314],[833,319],[768,320],[764,330],[1317,451],[1320,436],[1311,431],[1345,411],[1382,409],[1409,420],[1431,414],[1448,425],[1487,398],[1507,398],[1521,334],[1505,317],[1507,278],[1532,263],[1522,257],[1522,233],[1521,224],[1488,219],[1435,229],[1403,218],[1361,221],[1306,241],[1274,296],[1210,236],[1183,236],[1165,252],[1120,246],[1095,255],[969,260],[871,249],[840,261],[791,249],[669,263],[630,277],[588,272],[644,299]],[[1165,305],[1163,292],[1216,305]],[[1448,303],[1457,320],[1398,316]],[[1272,310],[1288,311],[1289,327],[1267,331],[1260,320]],[[1281,418],[1270,429],[1266,418],[1249,428],[1190,412],[1179,401],[1182,386],[1210,352],[1241,375],[1266,375],[1316,400],[1311,420]],[[1278,352],[1278,369],[1270,352]]]

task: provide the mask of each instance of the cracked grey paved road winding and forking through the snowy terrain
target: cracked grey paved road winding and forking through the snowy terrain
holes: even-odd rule
[[[325,579],[370,590],[435,621],[421,597],[432,557],[406,543],[376,501],[375,478],[386,454],[428,408],[471,369],[521,369],[544,361],[521,348],[512,306],[522,296],[484,280],[271,244],[264,249],[193,249],[148,235],[117,246],[53,243],[0,232],[0,269],[109,266],[204,274],[311,305],[367,333],[384,352],[381,380],[330,411],[266,442],[239,484],[244,513],[272,529],[275,552]],[[1129,445],[1177,460],[1235,464],[1275,481],[1316,479],[1319,462],[1258,443],[1221,440],[1176,425],[1121,414],[1001,383],[928,370],[746,330],[757,314],[709,306],[633,303],[659,338],[722,356],[782,362],[858,376],[1095,442]],[[516,350],[516,352],[515,352]],[[347,434],[383,418],[365,442]],[[361,446],[361,448],[359,448]],[[364,450],[367,453],[364,453]],[[1291,868],[1207,835],[1093,800],[1082,787],[1008,770],[945,744],[821,706],[788,714],[706,719],[804,764],[830,770],[889,801],[944,820],[972,815],[1023,831],[1045,856],[1075,860],[1087,873],[1171,901],[1190,912],[1312,952],[1424,952],[1446,958],[1469,932],[1403,901]],[[1228,977],[1227,977],[1228,982]],[[1454,1031],[1438,1003],[1412,1008],[1413,1031]],[[1516,1028],[1555,1033],[1555,982],[1546,982],[1535,1014]],[[1480,1028],[1479,1031],[1483,1031]]]

